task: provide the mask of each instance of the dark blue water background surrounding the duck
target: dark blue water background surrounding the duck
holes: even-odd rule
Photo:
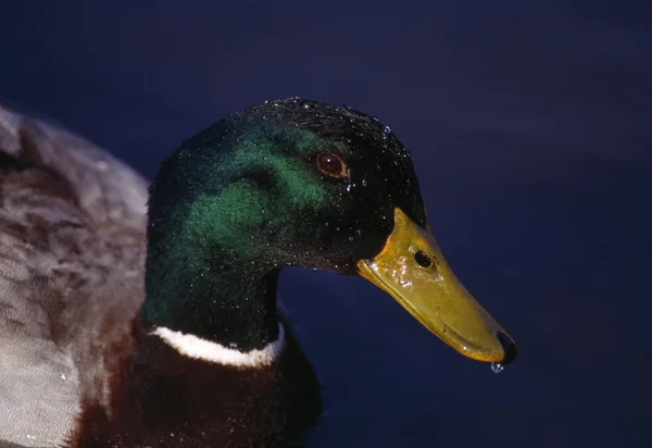
[[[362,279],[287,272],[284,302],[325,383],[314,446],[651,446],[644,4],[3,1],[0,95],[148,176],[265,99],[378,115],[519,358],[494,375]]]

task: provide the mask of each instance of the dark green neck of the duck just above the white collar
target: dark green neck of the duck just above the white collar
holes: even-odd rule
[[[206,253],[191,241],[150,250],[141,323],[243,352],[275,341],[278,270],[224,252]]]

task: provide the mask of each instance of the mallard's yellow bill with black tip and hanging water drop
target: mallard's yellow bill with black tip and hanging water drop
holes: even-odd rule
[[[358,269],[460,353],[502,364],[516,357],[512,337],[455,277],[432,235],[400,209],[380,253]]]

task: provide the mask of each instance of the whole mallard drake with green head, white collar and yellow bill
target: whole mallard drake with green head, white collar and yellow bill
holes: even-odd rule
[[[303,446],[321,385],[278,311],[288,266],[366,278],[465,357],[516,356],[377,117],[265,101],[183,141],[149,184],[0,107],[0,446]]]

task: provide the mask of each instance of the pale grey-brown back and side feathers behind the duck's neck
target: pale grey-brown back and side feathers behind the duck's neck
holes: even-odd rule
[[[108,340],[143,298],[147,183],[0,105],[0,447],[61,446],[104,401]]]

